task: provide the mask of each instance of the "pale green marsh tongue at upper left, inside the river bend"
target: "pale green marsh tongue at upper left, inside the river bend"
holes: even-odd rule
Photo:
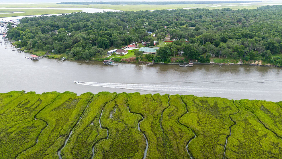
[[[5,11],[5,12],[24,11],[24,13],[0,14],[0,18],[4,18],[4,17],[16,17],[16,16],[27,16],[27,15],[75,13],[75,12],[79,12],[81,10],[64,10],[64,9],[0,9],[0,11]]]

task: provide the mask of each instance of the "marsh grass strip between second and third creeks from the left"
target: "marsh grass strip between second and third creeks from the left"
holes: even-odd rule
[[[106,130],[100,129],[99,126],[102,108],[116,95],[116,93],[100,92],[93,96],[93,101],[84,111],[81,121],[73,129],[73,134],[62,149],[62,158],[91,158],[93,146],[107,137]]]

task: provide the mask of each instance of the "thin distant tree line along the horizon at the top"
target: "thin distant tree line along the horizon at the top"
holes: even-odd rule
[[[213,4],[217,3],[251,3],[251,2],[262,2],[262,1],[212,1]],[[111,2],[60,2],[57,4],[84,4],[84,5],[89,5],[89,4],[112,4],[112,5],[118,5],[118,4],[148,4],[148,5],[166,5],[166,4],[210,4],[210,1],[178,1],[178,2],[135,2],[135,1],[127,1],[127,2],[122,2],[122,1],[111,1]]]

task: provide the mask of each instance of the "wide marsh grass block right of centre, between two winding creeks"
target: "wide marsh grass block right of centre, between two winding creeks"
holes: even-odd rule
[[[237,112],[232,100],[216,97],[181,96],[188,114],[181,122],[195,131],[197,137],[188,149],[195,158],[223,158],[229,127],[229,115]]]

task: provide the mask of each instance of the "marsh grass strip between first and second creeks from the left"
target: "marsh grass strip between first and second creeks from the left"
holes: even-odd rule
[[[19,154],[19,158],[57,158],[57,151],[63,146],[70,130],[91,99],[91,93],[77,96],[72,92],[58,94],[54,102],[36,115],[38,120],[48,124],[40,133],[38,143]]]

